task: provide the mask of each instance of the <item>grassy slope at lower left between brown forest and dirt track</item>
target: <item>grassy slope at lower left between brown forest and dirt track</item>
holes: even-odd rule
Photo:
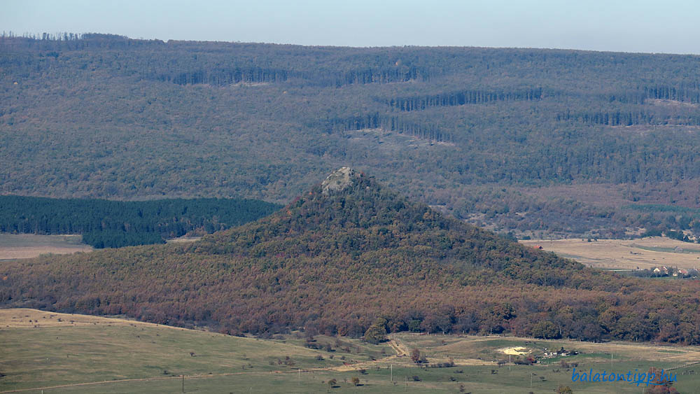
[[[0,391],[181,374],[295,372],[391,354],[387,344],[320,336],[314,340],[323,349],[329,344],[335,348],[307,349],[301,336],[262,340],[125,319],[0,309],[0,372],[6,375]]]

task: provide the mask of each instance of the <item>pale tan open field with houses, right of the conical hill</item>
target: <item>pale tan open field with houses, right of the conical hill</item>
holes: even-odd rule
[[[664,237],[598,239],[591,242],[581,239],[531,239],[519,242],[528,246],[542,246],[545,251],[596,268],[700,267],[699,244]]]

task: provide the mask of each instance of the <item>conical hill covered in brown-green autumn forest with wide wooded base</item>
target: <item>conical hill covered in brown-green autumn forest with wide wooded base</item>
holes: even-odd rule
[[[381,317],[388,332],[700,344],[697,281],[589,269],[348,179],[193,244],[7,262],[0,302],[262,336],[359,337]]]

